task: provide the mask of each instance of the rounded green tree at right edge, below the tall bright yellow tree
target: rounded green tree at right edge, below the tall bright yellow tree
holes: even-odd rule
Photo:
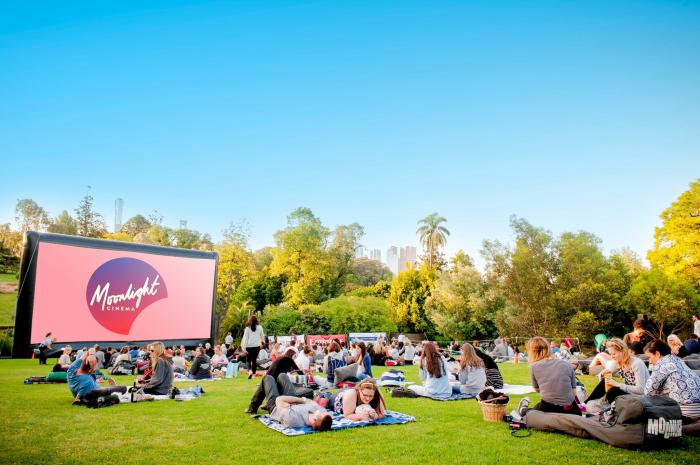
[[[652,268],[634,280],[625,303],[632,313],[646,314],[655,335],[665,339],[690,324],[688,316],[700,310],[700,295],[683,278]]]

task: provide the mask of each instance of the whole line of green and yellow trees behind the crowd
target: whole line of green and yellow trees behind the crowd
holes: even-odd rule
[[[27,230],[51,231],[219,254],[216,334],[242,332],[251,312],[270,334],[351,331],[423,332],[430,338],[488,339],[497,334],[621,335],[638,314],[657,335],[684,332],[700,309],[700,179],[661,214],[650,266],[630,249],[606,255],[586,231],[553,235],[511,217],[513,244],[485,240],[484,270],[459,251],[445,257],[447,220],[432,213],[417,223],[420,263],[392,276],[382,263],[356,258],[364,229],[329,228],[308,208],[287,217],[275,245],[252,250],[245,223],[223,239],[169,228],[157,213],[136,215],[108,233],[88,195],[51,218],[31,199],[17,202],[15,225],[0,225],[0,252],[18,257]]]

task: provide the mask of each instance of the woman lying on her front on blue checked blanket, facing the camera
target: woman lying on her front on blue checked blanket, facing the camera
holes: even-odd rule
[[[384,397],[374,378],[365,378],[354,388],[332,394],[328,399],[326,408],[349,420],[369,421],[386,416]]]

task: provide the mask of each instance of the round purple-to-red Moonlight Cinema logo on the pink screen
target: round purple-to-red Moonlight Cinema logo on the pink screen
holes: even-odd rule
[[[158,271],[135,258],[105,262],[92,274],[85,291],[93,318],[119,334],[129,334],[141,312],[166,297],[168,290]]]

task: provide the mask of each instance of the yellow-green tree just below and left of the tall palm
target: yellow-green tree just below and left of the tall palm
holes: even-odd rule
[[[427,264],[419,269],[409,267],[393,279],[387,300],[399,331],[434,333],[435,326],[425,309],[434,282],[435,271]]]

